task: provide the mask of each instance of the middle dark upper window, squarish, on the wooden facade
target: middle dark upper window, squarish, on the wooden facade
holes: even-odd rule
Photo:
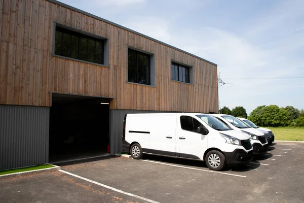
[[[128,81],[150,85],[150,55],[128,50]]]

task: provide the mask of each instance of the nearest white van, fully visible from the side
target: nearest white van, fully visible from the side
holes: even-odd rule
[[[208,114],[127,114],[123,149],[134,159],[143,154],[206,161],[211,170],[247,163],[253,158],[249,137]]]

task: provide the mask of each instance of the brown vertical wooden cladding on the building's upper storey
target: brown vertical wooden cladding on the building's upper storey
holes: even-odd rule
[[[46,0],[0,0],[0,104],[51,106],[49,92],[113,97],[111,109],[217,112],[216,65]],[[52,55],[54,22],[108,39],[109,67]],[[155,87],[127,83],[127,49],[155,55]],[[171,80],[171,60],[194,85]]]

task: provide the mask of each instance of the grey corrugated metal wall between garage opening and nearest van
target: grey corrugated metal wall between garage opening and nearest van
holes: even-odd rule
[[[115,155],[123,151],[122,133],[123,123],[126,114],[136,113],[164,113],[164,111],[144,111],[144,110],[110,110],[110,154]]]

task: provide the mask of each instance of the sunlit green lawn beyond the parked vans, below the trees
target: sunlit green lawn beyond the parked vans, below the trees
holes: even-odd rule
[[[304,141],[303,127],[266,127],[273,131],[275,140]]]

